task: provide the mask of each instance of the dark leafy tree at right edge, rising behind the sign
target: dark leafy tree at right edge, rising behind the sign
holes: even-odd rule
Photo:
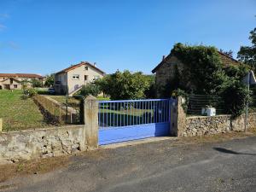
[[[237,53],[237,58],[239,61],[242,61],[256,69],[256,28],[250,32],[249,39],[252,42],[251,46],[241,46],[240,50]]]

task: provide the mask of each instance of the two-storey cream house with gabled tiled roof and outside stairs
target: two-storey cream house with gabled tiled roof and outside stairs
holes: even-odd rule
[[[81,61],[79,64],[67,67],[55,73],[55,93],[72,96],[83,85],[95,79],[101,79],[104,72],[89,62]]]

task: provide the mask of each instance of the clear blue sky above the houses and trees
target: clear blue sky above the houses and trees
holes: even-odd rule
[[[79,61],[151,73],[173,44],[236,53],[255,0],[0,0],[0,73],[54,73]]]

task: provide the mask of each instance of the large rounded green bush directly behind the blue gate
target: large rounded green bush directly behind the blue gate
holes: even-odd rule
[[[112,100],[145,98],[145,90],[149,88],[148,79],[143,73],[128,70],[109,74],[96,81],[96,84],[100,84],[103,93]]]

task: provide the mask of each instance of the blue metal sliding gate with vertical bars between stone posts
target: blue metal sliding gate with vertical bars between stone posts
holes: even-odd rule
[[[99,144],[168,136],[172,99],[99,102]]]

